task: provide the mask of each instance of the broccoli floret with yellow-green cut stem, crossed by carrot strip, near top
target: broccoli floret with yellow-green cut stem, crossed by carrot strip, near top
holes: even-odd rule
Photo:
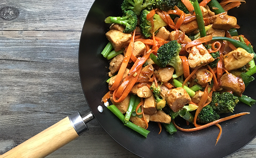
[[[154,15],[154,29],[152,30],[152,25],[151,22],[149,22],[147,20],[147,14],[149,13],[149,11],[147,9],[144,9],[141,13],[140,13],[140,29],[141,29],[141,33],[142,35],[148,39],[149,37],[152,37],[153,34],[152,33],[156,33],[156,31],[161,28],[162,26],[166,26],[166,22],[164,22],[164,20],[162,20],[162,18],[155,14]]]

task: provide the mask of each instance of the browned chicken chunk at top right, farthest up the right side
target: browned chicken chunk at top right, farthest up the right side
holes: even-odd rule
[[[217,14],[210,19],[212,27],[215,29],[229,30],[237,25],[236,17],[229,15]]]

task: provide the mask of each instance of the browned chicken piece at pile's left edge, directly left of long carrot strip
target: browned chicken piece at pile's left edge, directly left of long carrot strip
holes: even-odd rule
[[[123,62],[123,59],[124,56],[122,54],[118,54],[111,60],[111,62],[109,63],[109,77],[112,77],[115,72],[118,72]]]

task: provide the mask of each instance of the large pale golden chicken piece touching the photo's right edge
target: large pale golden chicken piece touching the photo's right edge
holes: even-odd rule
[[[243,48],[237,48],[223,56],[225,69],[227,71],[243,67],[254,57],[254,54],[248,53]]]

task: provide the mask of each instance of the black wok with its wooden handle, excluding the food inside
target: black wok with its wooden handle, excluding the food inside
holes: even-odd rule
[[[215,145],[215,141],[219,129],[215,126],[196,132],[178,131],[173,135],[169,135],[163,130],[158,135],[157,123],[149,123],[148,130],[151,132],[147,138],[144,138],[125,127],[107,108],[104,108],[102,113],[98,111],[98,105],[102,105],[101,97],[108,91],[105,81],[108,79],[109,62],[100,54],[108,42],[105,33],[108,31],[109,25],[104,23],[104,19],[108,16],[122,15],[121,3],[120,0],[96,0],[94,2],[85,21],[79,46],[79,70],[83,91],[94,117],[103,129],[120,145],[145,158],[222,158],[238,151],[253,140],[256,136],[256,130],[254,130],[256,128],[256,107],[249,107],[243,103],[236,106],[234,113],[251,112],[251,114],[220,123],[223,132],[217,145]],[[238,24],[241,26],[241,29],[238,29],[239,34],[245,35],[252,44],[256,43],[254,35],[256,22],[249,15],[255,15],[254,6],[256,6],[256,1],[250,0],[247,4],[228,12],[229,15],[238,19]],[[253,93],[255,88],[256,85],[251,83],[244,94],[256,99],[256,94]],[[84,119],[85,122],[92,119],[92,114]],[[70,120],[74,120],[72,125],[76,130],[70,125]],[[70,116],[69,119],[65,118],[57,125],[53,125],[53,127],[6,152],[0,158],[4,156],[15,157],[15,155],[21,157],[20,153],[24,150],[26,150],[27,156],[47,156],[65,143],[74,140],[78,136],[76,132],[80,134],[84,130],[83,128],[86,129],[86,125],[81,120],[82,118],[78,113]],[[179,120],[176,123],[184,124]]]

